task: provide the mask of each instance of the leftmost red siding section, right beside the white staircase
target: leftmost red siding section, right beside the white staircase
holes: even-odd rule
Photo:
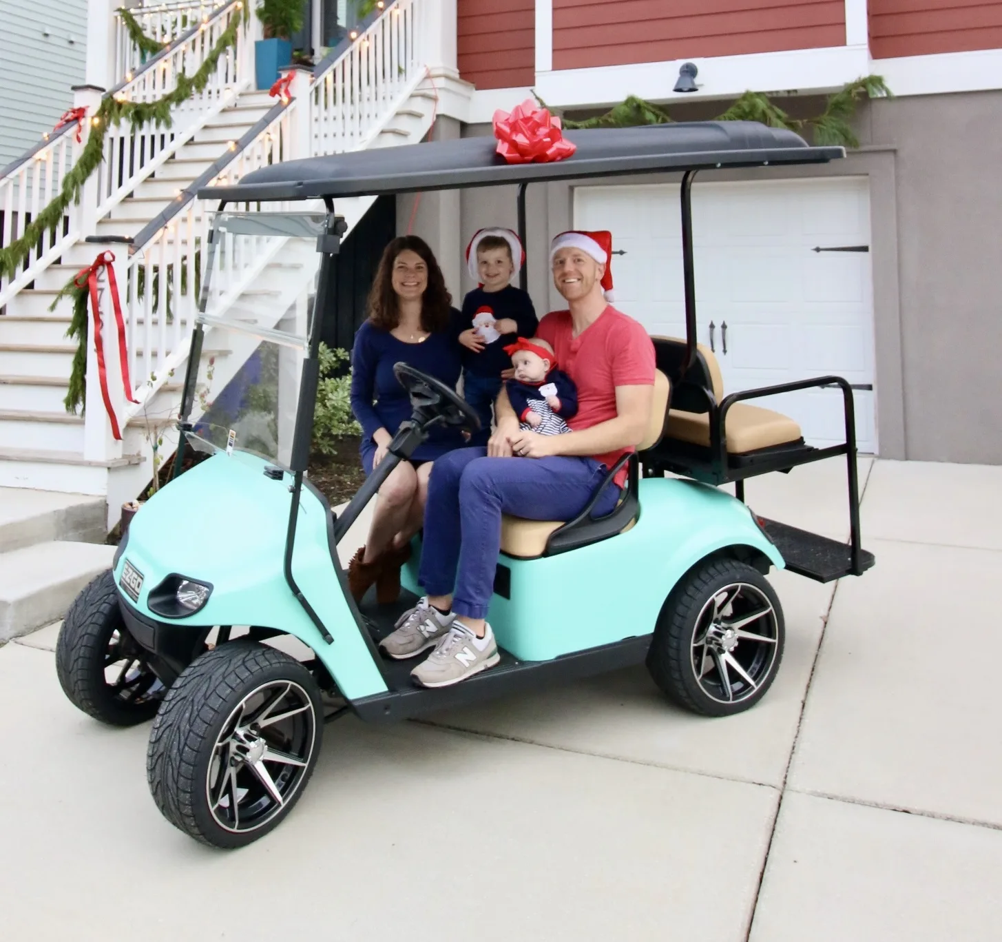
[[[459,73],[477,88],[536,80],[535,0],[458,0]]]

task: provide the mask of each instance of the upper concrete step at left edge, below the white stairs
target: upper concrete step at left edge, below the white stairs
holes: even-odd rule
[[[98,497],[0,487],[0,552],[52,540],[103,543],[105,516]]]

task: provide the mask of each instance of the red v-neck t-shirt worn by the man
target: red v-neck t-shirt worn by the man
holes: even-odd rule
[[[654,384],[654,345],[647,332],[632,318],[607,307],[577,337],[569,311],[553,311],[539,322],[536,337],[553,348],[557,368],[577,387],[577,414],[567,422],[572,432],[590,429],[614,419],[617,386]],[[611,468],[632,448],[593,455]],[[615,477],[622,487],[626,468]]]

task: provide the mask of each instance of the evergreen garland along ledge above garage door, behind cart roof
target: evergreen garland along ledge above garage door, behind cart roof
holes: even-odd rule
[[[804,120],[792,118],[783,108],[770,101],[768,95],[746,91],[715,120],[760,121],[770,127],[785,127],[797,133],[810,129],[817,144],[859,147],[859,139],[853,133],[852,120],[856,113],[856,104],[864,96],[893,97],[891,89],[880,75],[867,75],[829,95],[824,112],[817,117]],[[544,108],[547,107],[539,95],[536,95],[536,100]],[[635,95],[630,95],[598,117],[586,118],[583,121],[561,118],[563,127],[568,130],[592,127],[637,127],[643,124],[668,124],[672,121],[673,118],[663,108]]]

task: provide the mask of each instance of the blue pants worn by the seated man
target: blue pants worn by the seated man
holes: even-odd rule
[[[595,493],[605,465],[591,458],[488,458],[460,448],[432,466],[418,581],[429,595],[450,595],[453,611],[483,618],[494,594],[501,514],[571,520]],[[610,484],[592,516],[609,513],[620,490]]]

